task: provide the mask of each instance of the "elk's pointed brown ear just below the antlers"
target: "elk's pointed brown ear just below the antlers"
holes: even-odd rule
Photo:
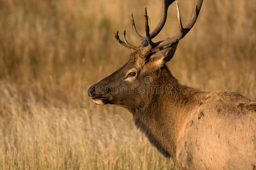
[[[155,67],[163,67],[174,56],[178,43],[179,41],[152,55],[150,57],[150,61],[155,65]]]

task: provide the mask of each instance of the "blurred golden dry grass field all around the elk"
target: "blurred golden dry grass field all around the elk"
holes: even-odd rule
[[[193,1],[179,0],[183,25]],[[114,33],[141,44],[160,0],[0,0],[0,169],[179,169],[123,108],[93,104],[86,88],[125,63]],[[256,2],[205,0],[168,63],[181,84],[256,99]],[[154,41],[176,35],[176,6]]]

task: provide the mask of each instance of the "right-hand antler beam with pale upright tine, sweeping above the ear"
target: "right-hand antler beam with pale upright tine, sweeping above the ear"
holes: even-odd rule
[[[195,0],[195,5],[193,7],[191,19],[189,20],[189,22],[185,28],[182,27],[181,18],[180,18],[180,9],[179,9],[179,5],[177,4],[177,18],[178,18],[180,32],[176,36],[170,37],[170,38],[160,42],[160,44],[156,48],[162,48],[163,46],[171,45],[174,42],[177,42],[180,39],[182,39],[190,31],[190,29],[193,27],[193,25],[196,23],[196,19],[197,19],[197,16],[199,15],[202,3],[203,3],[203,0]]]

